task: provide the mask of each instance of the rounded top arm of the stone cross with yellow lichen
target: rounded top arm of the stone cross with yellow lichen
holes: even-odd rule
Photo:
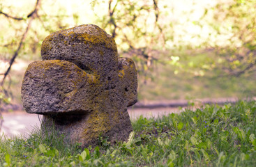
[[[57,31],[42,43],[43,60],[75,63],[85,72],[95,74],[106,87],[112,88],[117,70],[116,42],[98,26],[87,24]]]

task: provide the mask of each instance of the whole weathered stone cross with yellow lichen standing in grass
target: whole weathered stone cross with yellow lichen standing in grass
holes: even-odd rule
[[[41,56],[22,81],[27,113],[43,114],[42,127],[84,147],[99,136],[112,143],[128,138],[137,71],[130,58],[118,58],[111,35],[92,24],[57,31],[43,41]]]

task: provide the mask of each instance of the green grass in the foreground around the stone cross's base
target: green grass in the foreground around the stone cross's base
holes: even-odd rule
[[[255,101],[140,117],[133,129],[128,142],[84,150],[36,130],[1,141],[0,166],[256,166]]]

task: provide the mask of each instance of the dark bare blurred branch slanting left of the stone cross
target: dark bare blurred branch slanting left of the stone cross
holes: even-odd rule
[[[35,19],[36,17],[38,17],[37,12],[38,12],[38,8],[40,7],[40,1],[41,1],[41,0],[37,0],[37,1],[36,1],[36,6],[35,6],[34,10],[33,10],[31,13],[29,13],[29,15],[27,15],[27,17],[29,18],[29,22],[28,22],[28,24],[27,24],[27,28],[26,28],[26,30],[24,31],[23,35],[22,35],[22,38],[21,38],[21,40],[20,40],[20,43],[19,43],[17,49],[15,50],[15,53],[13,54],[12,58],[10,59],[10,63],[9,63],[8,69],[7,69],[6,72],[3,74],[3,79],[2,79],[2,81],[1,81],[1,86],[3,86],[4,81],[5,81],[6,77],[7,77],[7,75],[9,74],[10,69],[11,69],[11,67],[12,67],[12,65],[13,65],[13,63],[14,63],[14,61],[15,61],[15,58],[18,56],[19,51],[20,51],[20,49],[22,48],[22,45],[23,45],[23,43],[24,43],[24,40],[25,40],[26,37],[27,37],[27,33],[29,32],[29,29],[31,28],[31,24],[32,24],[32,22],[33,22],[33,19]],[[8,14],[6,14],[6,13],[3,13],[3,12],[1,12],[0,14],[3,14],[3,15],[5,15],[6,17],[11,18],[11,19],[23,20],[23,18],[12,17],[12,16],[10,16],[10,15],[8,15]]]

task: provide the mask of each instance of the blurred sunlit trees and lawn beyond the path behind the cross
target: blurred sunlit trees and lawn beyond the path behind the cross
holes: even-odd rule
[[[256,96],[256,0],[1,0],[1,111],[22,109],[44,38],[80,24],[135,61],[140,102]]]

